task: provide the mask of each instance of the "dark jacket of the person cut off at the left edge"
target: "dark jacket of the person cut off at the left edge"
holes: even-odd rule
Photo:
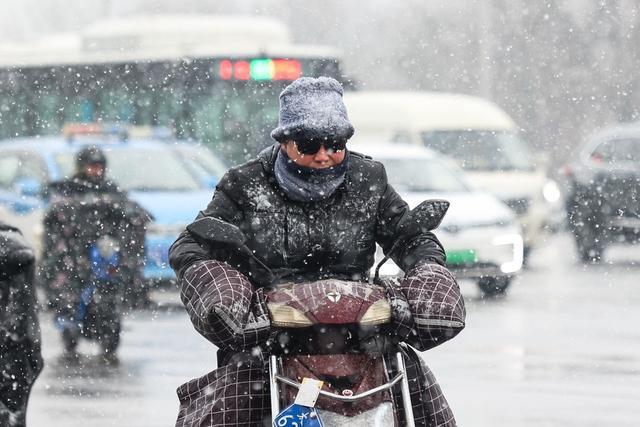
[[[42,369],[33,250],[0,221],[0,425],[24,426],[31,386]]]

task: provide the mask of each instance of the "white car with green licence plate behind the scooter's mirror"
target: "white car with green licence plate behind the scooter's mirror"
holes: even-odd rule
[[[382,162],[389,183],[410,207],[426,199],[448,200],[449,211],[435,231],[446,249],[447,267],[459,279],[475,281],[486,296],[505,293],[523,261],[522,231],[508,206],[474,189],[451,160],[424,147],[363,143],[349,149]],[[399,273],[395,264],[387,264],[381,274]]]

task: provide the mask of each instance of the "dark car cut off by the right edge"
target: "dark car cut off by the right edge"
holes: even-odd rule
[[[640,124],[594,134],[563,172],[567,221],[582,261],[600,261],[612,243],[640,241]]]

